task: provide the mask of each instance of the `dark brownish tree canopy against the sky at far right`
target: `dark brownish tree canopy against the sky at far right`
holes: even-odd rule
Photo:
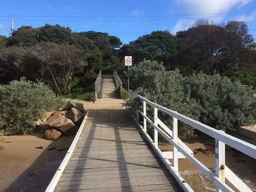
[[[254,39],[244,22],[229,21],[225,26],[200,20],[186,31],[177,32],[181,39],[178,61],[192,70],[227,74],[239,68],[242,55],[255,49]]]

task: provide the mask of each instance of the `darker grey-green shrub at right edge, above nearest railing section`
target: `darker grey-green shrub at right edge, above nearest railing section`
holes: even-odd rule
[[[188,76],[183,85],[201,106],[199,121],[221,130],[252,125],[256,121],[254,92],[220,75]]]

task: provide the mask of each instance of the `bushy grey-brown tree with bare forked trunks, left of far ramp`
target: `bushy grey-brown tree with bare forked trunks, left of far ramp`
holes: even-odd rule
[[[44,43],[34,47],[40,53],[42,75],[49,73],[60,95],[70,94],[75,73],[87,65],[82,49],[68,44]]]

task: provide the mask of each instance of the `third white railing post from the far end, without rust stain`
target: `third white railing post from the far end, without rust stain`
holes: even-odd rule
[[[178,140],[178,120],[175,117],[172,117],[172,138],[177,142]],[[172,146],[172,165],[176,171],[179,171],[178,166],[178,149],[175,146]]]

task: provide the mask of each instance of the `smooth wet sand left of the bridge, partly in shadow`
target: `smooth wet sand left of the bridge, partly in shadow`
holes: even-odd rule
[[[0,191],[45,191],[73,138],[50,141],[39,132],[1,136]]]

